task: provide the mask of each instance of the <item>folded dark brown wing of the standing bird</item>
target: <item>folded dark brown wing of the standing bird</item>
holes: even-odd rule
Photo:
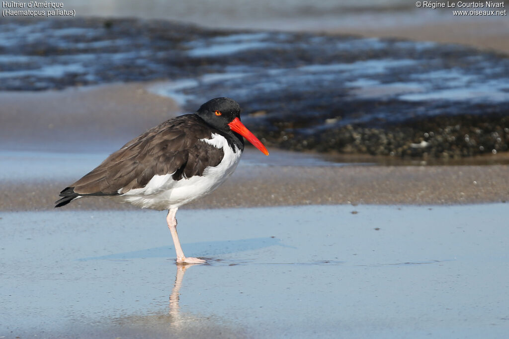
[[[195,114],[166,120],[112,153],[61,196],[118,195],[145,187],[154,175],[174,173],[174,180],[202,175],[224,156],[222,149],[200,141],[210,137],[210,127]]]

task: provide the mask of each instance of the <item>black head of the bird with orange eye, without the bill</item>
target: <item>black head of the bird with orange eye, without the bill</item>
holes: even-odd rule
[[[215,98],[207,101],[196,112],[198,116],[220,131],[230,131],[228,124],[240,119],[240,106],[230,98]]]

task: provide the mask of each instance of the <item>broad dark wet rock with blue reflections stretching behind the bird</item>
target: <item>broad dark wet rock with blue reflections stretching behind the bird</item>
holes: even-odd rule
[[[134,19],[3,20],[0,77],[2,90],[170,80],[158,94],[188,111],[232,97],[253,132],[286,149],[458,158],[509,145],[509,59],[459,45]]]

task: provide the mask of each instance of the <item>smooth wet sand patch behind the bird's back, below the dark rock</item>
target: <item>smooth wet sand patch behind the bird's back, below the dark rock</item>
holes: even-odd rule
[[[122,83],[0,92],[0,149],[118,148],[179,111],[173,100],[149,93],[146,86]]]

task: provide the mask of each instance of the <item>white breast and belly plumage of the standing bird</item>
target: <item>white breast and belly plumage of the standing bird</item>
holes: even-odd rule
[[[219,165],[205,168],[202,176],[192,176],[174,180],[174,173],[155,175],[144,188],[133,189],[116,199],[130,202],[143,208],[168,209],[180,207],[194,199],[201,198],[214,191],[237,168],[241,152],[234,150],[228,141],[219,134],[212,134],[211,139],[201,139],[217,148],[222,148],[224,157]]]

